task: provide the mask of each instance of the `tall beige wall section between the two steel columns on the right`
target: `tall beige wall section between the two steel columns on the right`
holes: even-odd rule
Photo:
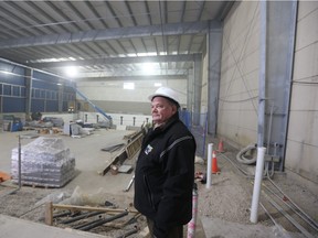
[[[216,133],[237,148],[257,141],[259,2],[234,3],[224,21]]]

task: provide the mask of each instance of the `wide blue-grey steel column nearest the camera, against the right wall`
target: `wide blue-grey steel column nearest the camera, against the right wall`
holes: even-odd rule
[[[263,17],[262,17],[263,15]],[[261,3],[258,147],[284,171],[289,120],[297,0]]]

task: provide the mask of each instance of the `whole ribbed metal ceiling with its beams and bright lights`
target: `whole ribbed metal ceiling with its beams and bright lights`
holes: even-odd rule
[[[0,57],[82,80],[188,74],[233,1],[0,1]],[[152,66],[153,66],[152,65]]]

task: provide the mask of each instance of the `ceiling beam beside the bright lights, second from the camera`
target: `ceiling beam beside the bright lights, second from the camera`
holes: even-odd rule
[[[195,57],[202,57],[201,54],[181,54],[181,55],[158,55],[158,56],[137,56],[137,57],[109,57],[83,61],[63,61],[63,62],[43,62],[30,63],[29,67],[34,68],[54,68],[65,66],[98,66],[114,64],[138,64],[138,63],[167,63],[167,62],[194,62]]]

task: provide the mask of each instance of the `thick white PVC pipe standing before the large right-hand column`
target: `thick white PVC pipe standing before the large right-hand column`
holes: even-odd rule
[[[256,171],[255,171],[254,190],[253,190],[251,217],[250,217],[251,223],[254,223],[254,224],[257,223],[257,210],[258,210],[261,186],[262,186],[262,178],[263,178],[265,151],[266,151],[266,148],[264,147],[257,148]]]

